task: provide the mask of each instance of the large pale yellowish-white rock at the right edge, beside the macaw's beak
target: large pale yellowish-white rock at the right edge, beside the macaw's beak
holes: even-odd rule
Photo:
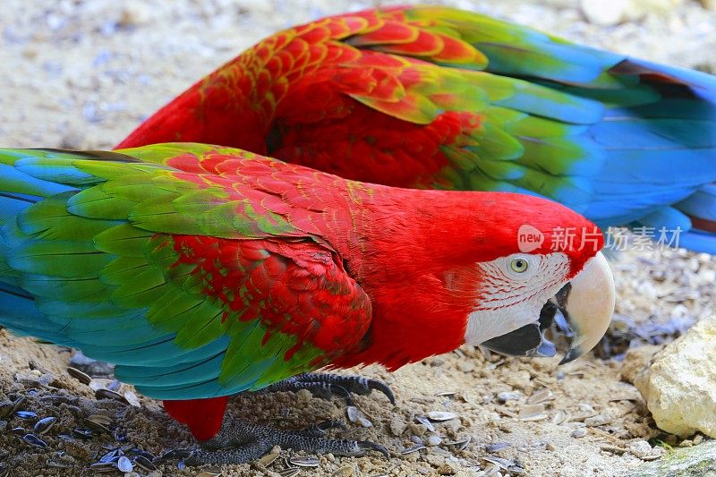
[[[635,386],[656,425],[680,437],[716,438],[716,316],[702,319],[639,372]]]

